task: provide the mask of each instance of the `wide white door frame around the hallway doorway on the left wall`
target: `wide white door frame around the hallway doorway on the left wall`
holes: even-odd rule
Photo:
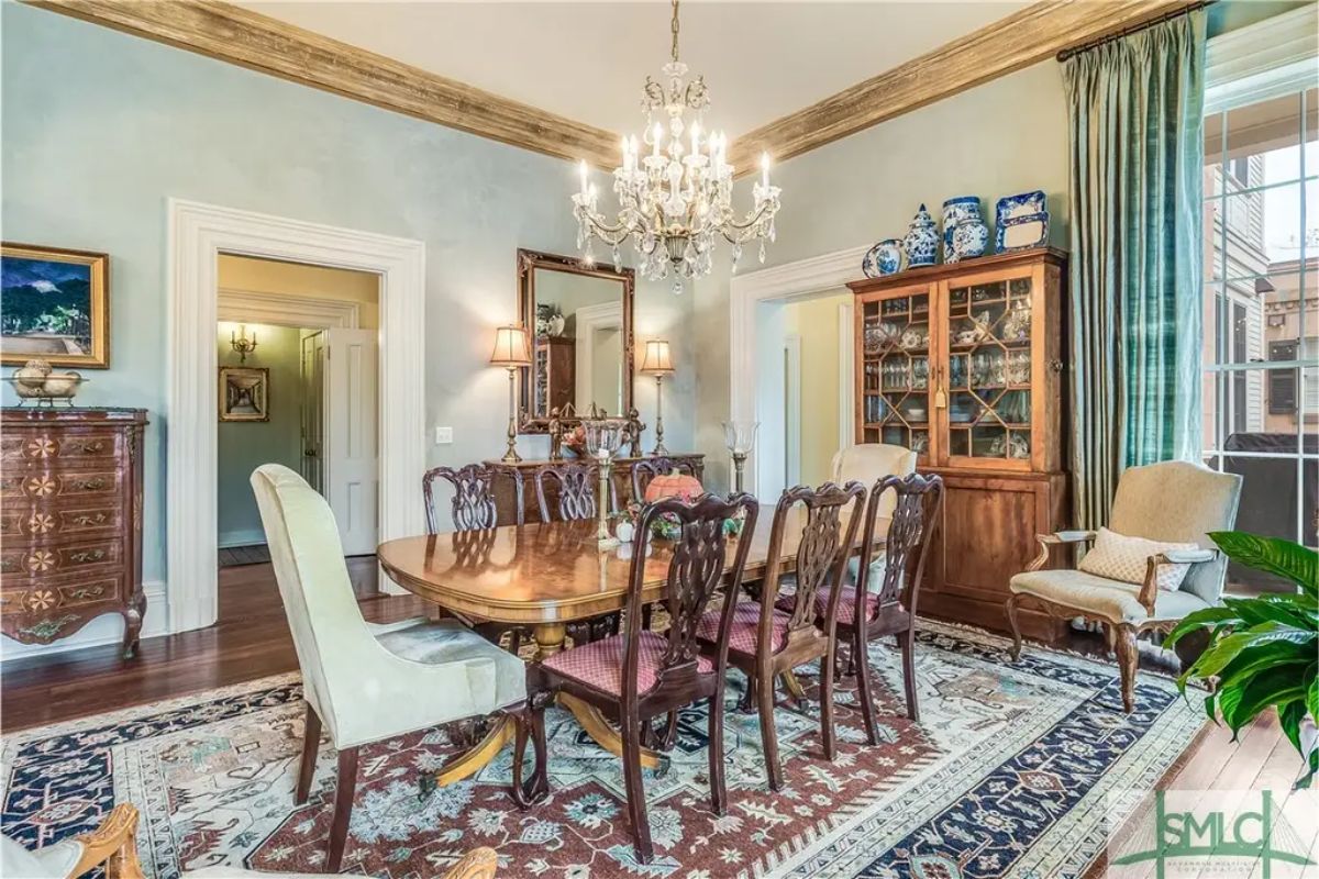
[[[373,232],[216,207],[168,204],[169,394],[165,503],[170,631],[218,615],[216,366],[220,253],[380,275],[380,536],[425,528],[417,485],[426,469],[426,246]],[[389,430],[384,430],[388,424]],[[384,585],[384,584],[383,584]]]

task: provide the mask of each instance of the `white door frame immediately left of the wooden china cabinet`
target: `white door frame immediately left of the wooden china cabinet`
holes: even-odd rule
[[[869,245],[861,245],[795,262],[785,262],[770,269],[733,275],[728,285],[728,399],[735,419],[765,423],[772,416],[777,418],[776,414],[757,411],[757,306],[811,299],[822,294],[834,293],[849,281],[860,279],[861,260],[869,249]],[[840,351],[847,351],[848,353],[844,356],[851,357],[851,348],[852,333],[848,331],[847,344]],[[851,412],[853,406],[851,376],[852,372],[848,370],[848,381],[842,389],[847,394],[843,402],[845,402],[848,412]],[[778,423],[782,423],[781,418]],[[847,436],[851,438],[851,435],[852,430],[849,428]],[[752,451],[749,459],[745,482],[747,490],[757,496],[761,496],[762,488],[774,492],[774,486],[781,481],[781,477],[776,477],[773,473],[778,467],[778,461],[761,461],[754,451]]]

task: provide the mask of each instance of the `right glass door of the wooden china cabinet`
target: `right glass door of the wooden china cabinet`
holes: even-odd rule
[[[950,282],[947,457],[1018,469],[1031,453],[1031,275]]]

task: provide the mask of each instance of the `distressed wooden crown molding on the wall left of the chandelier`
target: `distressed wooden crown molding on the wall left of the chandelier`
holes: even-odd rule
[[[619,136],[219,0],[28,0],[303,86],[600,167]]]

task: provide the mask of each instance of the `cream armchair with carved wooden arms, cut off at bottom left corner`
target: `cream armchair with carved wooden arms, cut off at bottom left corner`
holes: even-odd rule
[[[137,809],[120,803],[100,826],[73,839],[29,851],[21,842],[0,836],[0,876],[5,879],[77,879],[104,865],[106,879],[144,879],[137,859]],[[472,849],[443,879],[495,879],[499,854]],[[206,867],[181,879],[313,879],[319,874],[257,872],[241,867]]]

